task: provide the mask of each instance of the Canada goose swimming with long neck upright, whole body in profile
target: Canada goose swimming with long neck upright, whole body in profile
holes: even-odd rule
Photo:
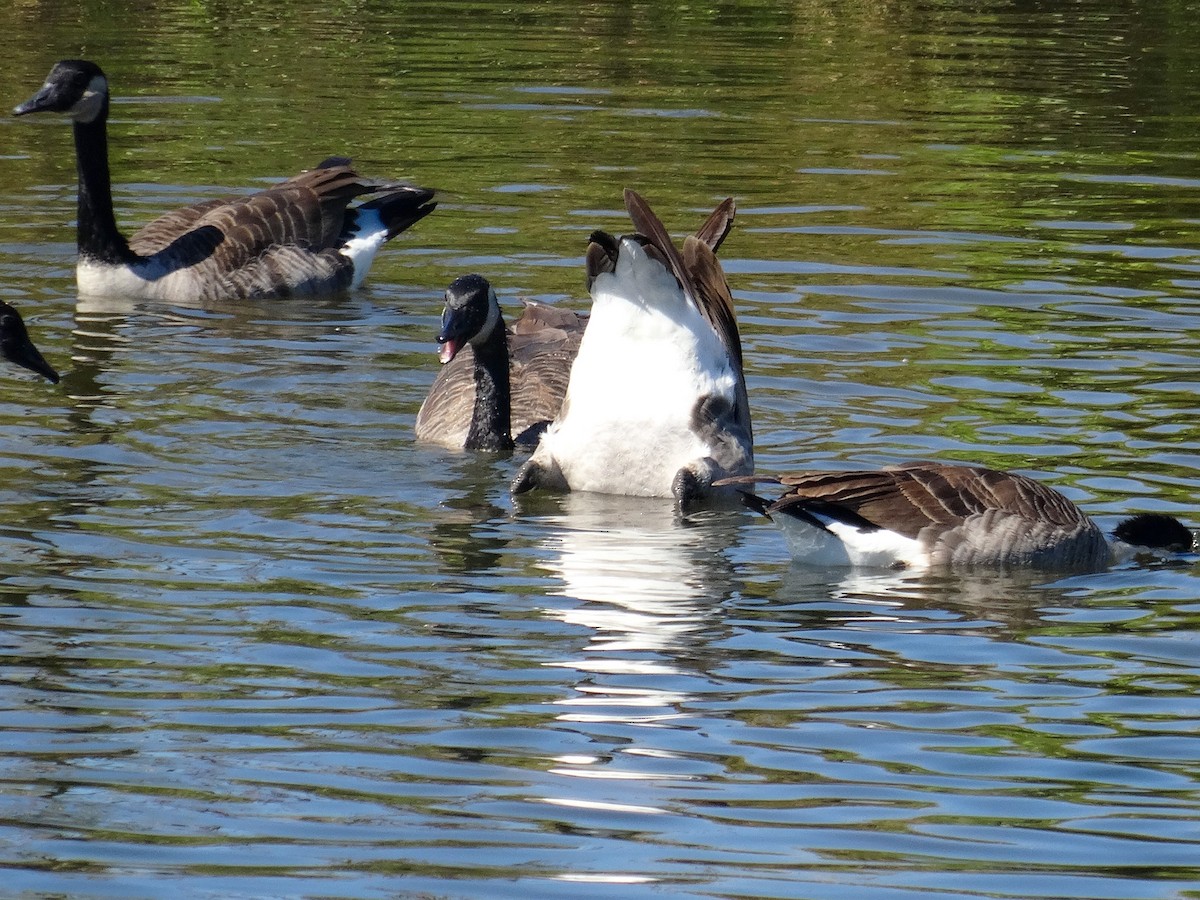
[[[360,178],[330,157],[266,191],[168,212],[126,240],[108,174],[108,80],[62,60],[13,115],[73,122],[79,172],[76,277],[83,293],[197,302],[358,287],[391,238],[433,211],[433,191]],[[355,197],[374,199],[350,206]]]

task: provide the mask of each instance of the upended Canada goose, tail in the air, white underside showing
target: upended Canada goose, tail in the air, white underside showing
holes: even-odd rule
[[[683,505],[716,479],[754,470],[742,341],[715,254],[733,200],[682,253],[634,191],[625,209],[636,234],[592,234],[592,316],[563,410],[517,473],[515,494],[544,487]]]

